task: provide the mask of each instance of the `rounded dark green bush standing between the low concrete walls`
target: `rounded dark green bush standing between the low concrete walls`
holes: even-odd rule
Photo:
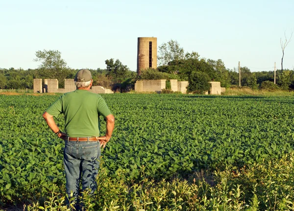
[[[204,94],[210,89],[210,77],[205,72],[192,72],[189,76],[188,92]]]

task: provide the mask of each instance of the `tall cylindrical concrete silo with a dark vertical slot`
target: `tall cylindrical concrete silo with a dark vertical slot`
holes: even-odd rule
[[[148,68],[157,68],[157,38],[138,37],[137,73]]]

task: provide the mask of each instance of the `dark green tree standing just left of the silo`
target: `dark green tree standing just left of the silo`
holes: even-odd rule
[[[123,65],[122,62],[120,62],[118,59],[115,62],[112,58],[109,60],[107,59],[105,64],[107,66],[106,76],[110,76],[115,83],[122,83],[131,75],[131,71],[128,69],[128,67]]]

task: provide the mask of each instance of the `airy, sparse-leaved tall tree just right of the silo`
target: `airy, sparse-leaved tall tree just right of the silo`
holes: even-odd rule
[[[159,66],[168,65],[169,62],[184,59],[184,57],[184,49],[175,40],[170,40],[158,47],[157,62]]]

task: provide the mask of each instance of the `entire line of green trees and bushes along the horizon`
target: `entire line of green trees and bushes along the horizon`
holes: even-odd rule
[[[0,89],[33,89],[34,78],[56,78],[59,88],[64,88],[64,79],[74,78],[78,69],[71,69],[61,58],[58,50],[39,50],[34,61],[41,62],[37,69],[0,69]],[[188,91],[204,93],[209,90],[209,81],[220,81],[222,87],[239,85],[239,70],[227,69],[219,60],[200,58],[197,52],[184,52],[177,41],[169,41],[158,47],[158,68],[141,70],[141,74],[131,71],[117,59],[107,59],[105,68],[90,69],[94,86],[103,86],[118,92],[134,89],[136,80],[167,79],[189,81]],[[273,71],[251,72],[241,67],[241,86],[263,90],[293,90],[294,70],[277,70],[277,84],[274,84]]]

